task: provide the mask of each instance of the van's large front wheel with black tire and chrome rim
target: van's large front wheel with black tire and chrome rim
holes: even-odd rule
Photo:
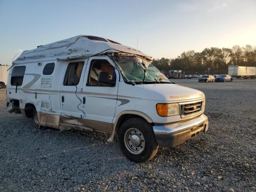
[[[152,159],[159,147],[151,124],[142,118],[126,120],[118,131],[118,142],[123,154],[135,162]]]

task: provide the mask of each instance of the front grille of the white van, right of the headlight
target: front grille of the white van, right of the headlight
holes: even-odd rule
[[[195,102],[195,103],[189,103],[189,104],[182,104],[180,107],[181,107],[181,116],[182,117],[192,116],[196,113],[201,112],[202,101]]]

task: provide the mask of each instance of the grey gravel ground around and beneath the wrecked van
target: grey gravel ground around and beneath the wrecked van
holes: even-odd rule
[[[0,90],[0,191],[256,191],[256,80],[174,80],[206,95],[209,131],[148,162],[109,135],[39,130]]]

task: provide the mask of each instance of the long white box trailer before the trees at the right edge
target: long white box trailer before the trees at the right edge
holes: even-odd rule
[[[256,78],[256,67],[244,67],[238,65],[228,66],[228,74],[236,78]]]

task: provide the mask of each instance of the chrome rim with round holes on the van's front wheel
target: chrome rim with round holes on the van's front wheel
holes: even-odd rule
[[[144,136],[138,129],[130,128],[124,134],[124,145],[130,153],[140,154],[145,147]]]

